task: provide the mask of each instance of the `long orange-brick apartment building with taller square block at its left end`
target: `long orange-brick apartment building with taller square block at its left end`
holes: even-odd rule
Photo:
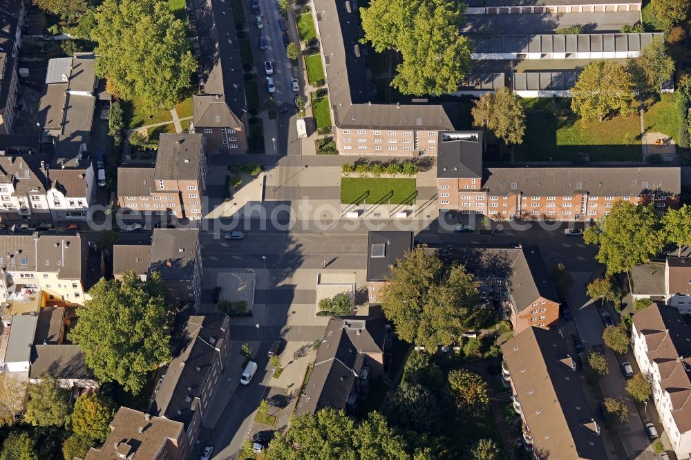
[[[484,215],[491,220],[595,221],[614,202],[679,206],[678,167],[488,167],[482,133],[440,133],[438,209],[442,215]]]

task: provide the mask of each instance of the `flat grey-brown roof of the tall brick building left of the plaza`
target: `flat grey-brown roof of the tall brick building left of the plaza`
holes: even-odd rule
[[[202,149],[201,134],[162,134],[154,177],[156,180],[196,180]]]

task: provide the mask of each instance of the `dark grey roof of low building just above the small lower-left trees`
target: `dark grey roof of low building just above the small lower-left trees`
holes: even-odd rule
[[[31,367],[29,378],[41,378],[48,372],[60,379],[93,379],[91,369],[78,345],[34,345],[31,347]]]

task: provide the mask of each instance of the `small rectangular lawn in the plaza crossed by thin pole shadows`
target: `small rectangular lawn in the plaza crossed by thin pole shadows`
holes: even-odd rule
[[[413,204],[416,197],[415,179],[341,179],[341,203]]]

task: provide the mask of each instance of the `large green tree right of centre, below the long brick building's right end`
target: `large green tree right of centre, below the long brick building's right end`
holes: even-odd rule
[[[607,265],[607,276],[648,262],[665,244],[654,207],[621,200],[598,225],[585,229],[583,240],[600,245],[596,258]]]

